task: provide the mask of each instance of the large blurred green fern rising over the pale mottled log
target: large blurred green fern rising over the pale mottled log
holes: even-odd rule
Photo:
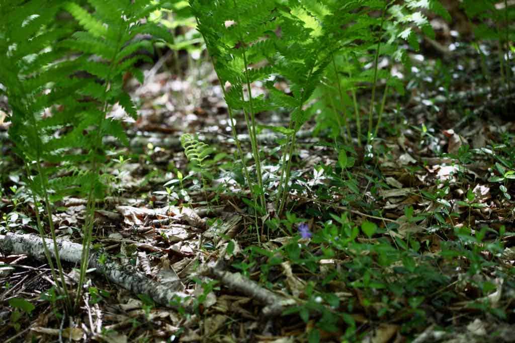
[[[72,193],[88,198],[76,305],[88,263],[95,199],[104,192],[99,178],[105,162],[102,138],[111,135],[128,143],[121,123],[106,115],[119,104],[136,116],[136,107],[122,86],[123,75],[129,71],[142,75],[134,65],[148,60],[141,51],[151,50],[152,44],[142,35],[172,40],[165,29],[147,20],[159,2],[88,2],[92,10],[78,1],[0,4],[0,82],[12,111],[9,136],[26,161],[35,202],[37,197],[45,202],[54,239],[52,201]],[[63,10],[72,14],[75,24],[57,22]],[[60,165],[60,173],[44,162]],[[89,163],[88,170],[75,167],[84,162]]]

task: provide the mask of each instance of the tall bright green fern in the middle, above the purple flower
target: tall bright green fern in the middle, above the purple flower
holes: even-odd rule
[[[306,9],[309,4],[304,6],[303,3],[274,0],[190,1],[220,83],[231,85],[230,91],[225,93],[227,104],[231,110],[243,112],[261,193],[264,193],[264,184],[255,139],[255,115],[286,109],[293,115],[289,126],[283,129],[298,131],[310,118],[303,106],[319,84],[334,49],[332,40],[324,37],[325,29]],[[254,68],[254,65],[264,67]],[[272,90],[273,84],[268,81],[278,76],[288,82],[291,94]],[[267,84],[267,88],[272,90],[269,99],[252,95],[250,83],[254,81]],[[278,212],[282,211],[283,205],[279,203],[284,203],[281,199],[287,192],[285,185],[289,182],[295,134],[290,135],[289,139],[283,150],[283,168],[276,198]],[[252,186],[250,188],[252,192]],[[263,197],[261,205],[264,207]]]

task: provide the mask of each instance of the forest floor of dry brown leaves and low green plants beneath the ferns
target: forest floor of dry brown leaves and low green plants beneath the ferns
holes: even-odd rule
[[[92,271],[83,307],[63,315],[44,261],[0,255],[0,337],[515,341],[515,95],[500,85],[494,62],[485,76],[469,45],[454,46],[442,63],[415,56],[415,81],[388,100],[371,146],[345,147],[306,124],[287,214],[274,218],[269,198],[269,216],[259,218],[268,225],[258,227],[209,63],[181,76],[150,69],[144,85],[129,84],[141,116],[126,123],[130,146],[113,143],[108,152],[109,195],[98,203],[94,247],[191,298],[163,306]],[[0,234],[37,234],[1,119]],[[258,117],[262,125],[287,120]],[[243,124],[237,130],[250,151]],[[184,155],[184,133],[213,149],[202,174]],[[281,137],[264,130],[259,138],[273,191]],[[56,204],[60,238],[80,242],[84,209],[72,197]],[[73,288],[76,265],[64,267]]]

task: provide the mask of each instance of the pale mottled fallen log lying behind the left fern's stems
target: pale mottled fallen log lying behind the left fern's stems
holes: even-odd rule
[[[55,258],[53,243],[48,239],[46,242],[50,254]],[[61,260],[75,264],[80,263],[82,245],[59,239],[58,246]],[[7,233],[5,236],[0,235],[0,249],[6,254],[26,254],[37,260],[44,261],[46,259],[43,241],[38,235],[15,233]],[[129,289],[135,294],[146,294],[156,303],[163,306],[174,308],[175,306],[171,305],[170,302],[178,299],[182,299],[181,306],[185,308],[191,306],[191,298],[187,299],[187,294],[176,291],[169,284],[164,286],[155,280],[149,279],[131,265],[123,266],[109,258],[105,263],[99,263],[98,258],[99,255],[97,253],[90,253],[88,268],[94,268],[97,273],[104,275],[111,282]]]

